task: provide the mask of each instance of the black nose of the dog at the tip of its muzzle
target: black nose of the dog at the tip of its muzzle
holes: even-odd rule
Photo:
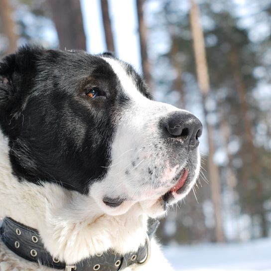
[[[184,147],[195,148],[199,144],[199,137],[202,134],[202,124],[199,119],[188,112],[171,113],[164,128],[167,136],[182,139]]]

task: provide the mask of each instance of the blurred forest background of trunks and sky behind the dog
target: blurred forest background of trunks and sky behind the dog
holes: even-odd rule
[[[115,52],[202,121],[200,177],[164,245],[271,236],[271,0],[0,0],[0,57],[27,43]]]

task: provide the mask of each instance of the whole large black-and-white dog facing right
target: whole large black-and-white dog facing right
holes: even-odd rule
[[[194,115],[153,101],[133,67],[110,53],[24,46],[3,58],[0,217],[17,228],[2,230],[0,271],[54,270],[37,250],[33,261],[16,253],[24,230],[65,270],[139,247],[141,262],[135,255],[131,265],[120,258],[116,269],[84,270],[172,270],[146,233],[195,184],[201,134]]]

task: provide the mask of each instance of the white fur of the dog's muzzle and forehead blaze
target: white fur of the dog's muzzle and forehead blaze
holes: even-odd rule
[[[123,91],[130,98],[131,104],[119,116],[118,130],[112,143],[112,165],[109,167],[107,176],[102,182],[95,183],[90,187],[91,196],[96,200],[99,207],[109,215],[121,215],[126,213],[134,204],[139,202],[144,212],[151,217],[164,215],[163,205],[160,204],[160,196],[172,187],[170,180],[174,177],[177,169],[184,166],[185,161],[170,167],[168,157],[168,145],[161,140],[158,122],[172,112],[188,112],[174,106],[155,102],[144,97],[137,89],[125,70],[125,63],[112,58],[103,58],[107,61],[123,87]],[[181,139],[180,139],[181,140]],[[163,151],[155,150],[154,144]],[[198,159],[200,156],[198,154]],[[136,166],[133,167],[133,161]],[[148,167],[156,166],[155,178],[148,181]],[[196,176],[200,166],[198,160]],[[126,172],[129,171],[129,176]],[[154,175],[154,173],[153,173]],[[196,179],[196,178],[195,178]],[[191,182],[190,189],[195,183]],[[148,185],[145,185],[148,183]],[[153,186],[158,184],[158,188]],[[183,194],[175,194],[175,202],[179,201],[190,191]],[[103,197],[125,197],[130,199],[117,208],[110,208],[103,203]],[[146,200],[147,199],[147,200]]]

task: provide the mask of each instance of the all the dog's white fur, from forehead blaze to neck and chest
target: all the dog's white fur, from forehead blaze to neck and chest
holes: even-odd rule
[[[164,215],[159,204],[160,197],[172,187],[169,180],[176,170],[184,166],[179,161],[170,167],[166,145],[153,136],[157,133],[157,122],[161,116],[180,110],[146,99],[136,90],[121,62],[108,58],[106,61],[118,75],[133,103],[120,116],[112,142],[112,165],[108,174],[90,187],[89,195],[68,191],[52,183],[36,185],[26,180],[19,182],[11,173],[7,139],[0,132],[0,217],[10,216],[37,229],[50,254],[67,264],[109,248],[120,254],[136,251],[145,242],[147,215]],[[154,143],[160,144],[164,153],[156,153]],[[132,167],[135,160],[136,166]],[[149,165],[157,165],[158,178],[153,178],[150,185],[144,185]],[[130,171],[129,177],[127,170]],[[155,186],[157,184],[159,187]],[[104,196],[125,196],[129,200],[120,207],[110,208],[103,203]],[[184,196],[179,195],[176,201]],[[134,265],[126,271],[172,270],[155,240],[151,241],[151,250],[146,265]],[[24,270],[51,269],[20,259],[0,241],[0,271]]]

